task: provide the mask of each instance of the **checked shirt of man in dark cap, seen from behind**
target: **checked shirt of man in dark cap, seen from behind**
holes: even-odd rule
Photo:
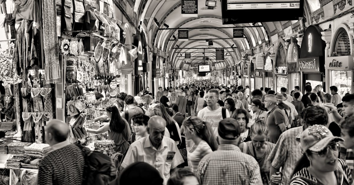
[[[242,153],[235,145],[219,145],[199,163],[200,185],[261,185],[262,178],[255,158]]]

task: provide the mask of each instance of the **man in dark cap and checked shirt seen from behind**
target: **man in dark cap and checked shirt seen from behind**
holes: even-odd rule
[[[242,153],[240,126],[236,119],[225,118],[218,126],[218,150],[206,155],[199,163],[197,176],[205,184],[263,184],[255,158]]]

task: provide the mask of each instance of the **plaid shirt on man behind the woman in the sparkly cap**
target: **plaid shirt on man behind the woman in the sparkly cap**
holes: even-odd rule
[[[268,161],[270,161],[272,166],[274,168],[282,167],[281,185],[289,184],[292,170],[302,156],[299,146],[302,131],[303,127],[301,126],[283,132],[269,154]]]

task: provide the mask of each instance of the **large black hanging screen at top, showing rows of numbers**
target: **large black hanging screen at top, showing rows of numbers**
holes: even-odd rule
[[[303,0],[221,0],[223,24],[298,20]]]

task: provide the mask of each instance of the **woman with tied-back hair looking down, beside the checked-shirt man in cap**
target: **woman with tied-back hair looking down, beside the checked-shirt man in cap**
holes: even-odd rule
[[[263,184],[268,185],[270,162],[267,159],[275,144],[267,141],[268,127],[262,119],[257,119],[251,126],[250,136],[251,141],[242,142],[239,146],[240,150],[256,159],[261,170]]]

